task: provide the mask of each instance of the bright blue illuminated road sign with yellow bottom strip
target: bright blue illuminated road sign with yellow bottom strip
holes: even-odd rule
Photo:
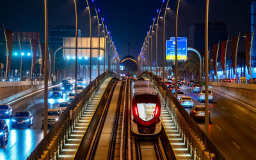
[[[186,37],[178,37],[178,61],[186,61],[187,60],[187,38]],[[166,41],[166,61],[175,61],[175,37],[172,37],[171,40]]]

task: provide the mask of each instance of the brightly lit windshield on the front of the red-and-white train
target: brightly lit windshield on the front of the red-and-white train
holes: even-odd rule
[[[155,103],[137,103],[138,113],[141,120],[150,121],[154,118],[156,104]]]

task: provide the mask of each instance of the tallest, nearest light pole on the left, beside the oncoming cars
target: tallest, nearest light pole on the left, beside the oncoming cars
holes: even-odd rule
[[[47,109],[48,109],[48,11],[47,0],[44,0],[44,24],[45,24],[45,46],[44,46],[44,138],[47,134]]]

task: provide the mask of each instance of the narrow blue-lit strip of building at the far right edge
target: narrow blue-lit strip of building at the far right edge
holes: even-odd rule
[[[251,32],[256,29],[256,0],[251,1]],[[256,67],[256,36],[253,36],[252,66]]]

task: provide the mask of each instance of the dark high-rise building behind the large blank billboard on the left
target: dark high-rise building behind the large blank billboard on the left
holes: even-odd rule
[[[75,26],[55,26],[49,29],[49,47],[54,51],[58,47],[63,46],[64,37],[75,37],[76,27]],[[81,37],[81,31],[78,29],[78,37]]]

